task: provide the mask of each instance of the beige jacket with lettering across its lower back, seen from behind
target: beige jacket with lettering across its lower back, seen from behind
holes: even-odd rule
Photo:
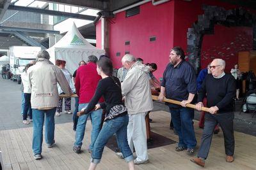
[[[31,108],[58,106],[57,82],[65,94],[70,95],[70,87],[62,71],[50,64],[49,60],[38,59],[28,69],[31,83]]]

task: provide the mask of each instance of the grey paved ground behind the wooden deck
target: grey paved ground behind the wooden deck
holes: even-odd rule
[[[17,82],[0,79],[0,131],[32,126],[22,124],[20,94],[20,85]],[[239,115],[240,106],[241,102],[237,102],[234,119],[235,130],[256,136],[256,117],[252,118],[252,113],[242,112]],[[168,111],[168,107],[163,103],[154,102],[154,111],[159,110]],[[72,111],[74,111],[74,99],[72,99]],[[199,116],[200,113],[196,111],[195,119],[198,120]],[[60,117],[55,118],[55,122],[56,124],[72,122],[72,115],[63,113]]]

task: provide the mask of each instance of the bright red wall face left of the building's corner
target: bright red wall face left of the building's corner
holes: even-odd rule
[[[114,67],[122,66],[125,51],[141,57],[145,63],[156,62],[158,78],[168,63],[168,54],[173,46],[173,1],[158,6],[146,3],[140,6],[140,14],[125,17],[125,11],[117,13],[110,24],[109,47]],[[156,41],[149,41],[156,36]],[[130,45],[125,45],[130,41]],[[116,52],[121,55],[116,57]]]

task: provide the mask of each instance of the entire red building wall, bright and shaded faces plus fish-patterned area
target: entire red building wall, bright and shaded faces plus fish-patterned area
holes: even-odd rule
[[[129,51],[135,57],[144,59],[145,63],[156,62],[158,69],[155,76],[162,77],[169,62],[170,48],[181,46],[186,50],[188,28],[197,20],[198,15],[204,14],[202,4],[223,6],[226,10],[236,8],[219,1],[172,0],[157,6],[151,2],[143,4],[140,6],[140,14],[132,17],[125,18],[125,11],[117,13],[109,24],[109,54],[114,67],[121,67],[122,56],[125,51]],[[204,36],[202,67],[207,66],[212,57],[220,57],[227,60],[226,68],[230,71],[237,62],[237,52],[252,50],[252,28],[216,25],[214,32],[214,35]],[[97,35],[97,47],[100,47],[100,22],[97,24],[97,34],[100,34]],[[156,41],[150,42],[150,36],[156,36]],[[125,41],[130,41],[130,45],[125,45]],[[228,50],[224,50],[224,47]],[[120,57],[116,57],[116,52],[121,53]]]

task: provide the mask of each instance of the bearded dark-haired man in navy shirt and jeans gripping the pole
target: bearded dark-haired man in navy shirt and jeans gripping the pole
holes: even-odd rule
[[[164,93],[167,99],[181,101],[181,105],[168,104],[172,115],[175,131],[179,134],[179,143],[175,148],[177,152],[187,150],[189,155],[195,152],[196,138],[193,126],[194,110],[186,108],[196,94],[195,69],[189,62],[184,60],[185,55],[182,48],[172,48],[161,83],[159,101],[163,101]]]

